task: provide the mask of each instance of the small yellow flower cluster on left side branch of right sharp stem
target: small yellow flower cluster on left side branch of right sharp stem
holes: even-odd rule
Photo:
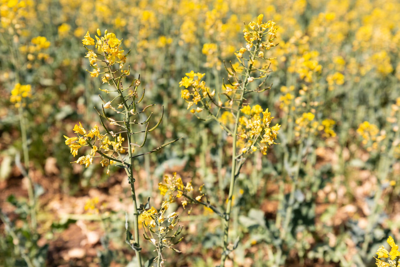
[[[198,102],[202,101],[208,95],[213,97],[215,95],[215,90],[210,92],[210,88],[206,86],[206,82],[201,79],[203,78],[204,73],[194,73],[192,70],[189,73],[186,73],[186,76],[182,78],[179,82],[179,87],[184,86],[186,89],[181,91],[181,97],[186,100],[188,103],[188,109],[193,106],[193,104],[197,105]],[[204,106],[207,106],[207,103],[203,103]],[[203,108],[196,107],[196,109],[191,109],[190,112],[202,112]]]

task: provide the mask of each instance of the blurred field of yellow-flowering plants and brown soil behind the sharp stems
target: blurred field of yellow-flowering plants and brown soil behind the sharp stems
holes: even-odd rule
[[[30,84],[32,97],[24,107],[29,166],[24,157],[21,164],[32,183],[44,189],[37,201],[37,243],[48,244],[50,266],[97,264],[98,252],[106,251],[100,237],[91,238],[104,231],[98,219],[84,214],[88,196],[108,204],[110,262],[126,265],[133,255],[121,242],[125,210],[132,211],[124,174],[108,177],[98,165],[80,169],[66,160],[63,135],[77,121],[93,122],[97,112],[92,107],[101,104],[97,88],[106,88],[87,77],[90,66],[81,48],[86,31],[108,28],[124,36],[125,47],[132,49],[127,59],[133,62],[131,74],[140,74],[150,89],[150,102],[164,105],[156,139],[146,148],[185,137],[136,159],[140,202],[156,199],[152,192],[163,174],[172,171],[184,182],[194,177],[195,188],[204,183],[208,195],[221,198],[217,192],[226,188],[229,177],[223,157],[228,147],[222,145],[227,136],[219,126],[201,126],[187,113],[178,82],[197,70],[206,74],[211,91],[221,86],[222,60],[234,62],[243,22],[260,13],[279,25],[279,44],[265,54],[275,58],[269,78],[274,90],[258,94],[258,102],[270,107],[282,125],[280,145],[266,158],[247,161],[238,177],[232,228],[244,234],[228,260],[235,266],[373,265],[372,257],[388,235],[399,239],[398,1],[0,3],[1,209],[10,225],[24,229],[29,212],[22,209],[24,215],[11,205],[13,197],[5,200],[13,195],[21,203],[28,196],[16,161],[16,155],[23,155],[23,130],[10,96],[16,84]],[[161,110],[154,113],[158,118]],[[158,199],[155,207],[162,203]],[[187,216],[181,203],[174,205],[185,239],[176,247],[181,254],[165,250],[164,257],[174,259],[166,264],[218,264],[215,248],[223,235],[218,215],[186,206],[191,211]],[[5,255],[0,265],[24,261],[14,251],[16,245],[10,246],[5,228],[2,220],[0,231],[6,238],[0,239],[0,255]]]

